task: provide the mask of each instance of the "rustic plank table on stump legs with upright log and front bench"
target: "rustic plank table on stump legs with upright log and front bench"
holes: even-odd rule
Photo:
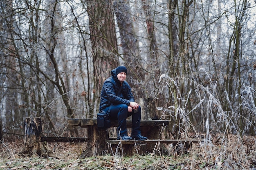
[[[161,114],[157,110],[157,99],[141,98],[139,99],[139,105],[141,106],[141,135],[148,137],[146,141],[121,141],[116,138],[110,138],[108,130],[103,130],[97,127],[97,119],[68,119],[67,122],[71,126],[81,126],[88,130],[88,144],[86,150],[81,157],[90,157],[94,155],[102,154],[102,151],[108,152],[109,147],[111,150],[121,148],[122,155],[130,156],[134,152],[144,154],[145,152],[154,152],[155,146],[160,150],[160,154],[169,154],[168,149],[164,144],[173,144],[173,146],[182,144],[185,148],[191,148],[193,143],[198,143],[199,140],[162,140],[161,132],[169,124],[169,120],[159,120]],[[132,127],[132,120],[127,119],[127,128]],[[117,127],[117,121],[111,121],[111,127]],[[106,146],[107,145],[107,146]],[[121,145],[121,147],[120,147]],[[134,148],[131,145],[138,146],[141,152],[138,152],[138,148]]]

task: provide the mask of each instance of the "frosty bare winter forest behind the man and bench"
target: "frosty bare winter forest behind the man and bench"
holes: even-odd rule
[[[0,0],[0,137],[25,117],[83,136],[119,65],[135,101],[158,98],[166,139],[255,135],[255,0]],[[71,130],[69,132],[68,130]]]

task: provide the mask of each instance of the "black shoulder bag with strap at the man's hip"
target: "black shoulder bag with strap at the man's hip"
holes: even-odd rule
[[[118,90],[117,96],[119,95],[120,91],[121,91],[121,87]],[[107,113],[104,110],[100,110],[99,113],[97,113],[97,126],[99,128],[107,129],[111,127],[111,121],[109,116],[111,106],[112,106],[112,103],[110,104]]]

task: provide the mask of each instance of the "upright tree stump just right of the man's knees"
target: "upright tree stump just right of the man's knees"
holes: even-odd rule
[[[141,106],[141,119],[145,120],[159,120],[161,117],[161,112],[157,110],[159,106],[159,100],[156,98],[139,98],[139,105]],[[141,135],[148,137],[148,139],[162,139],[161,126],[153,127],[141,127]],[[156,154],[168,155],[168,149],[164,144],[157,146]],[[153,153],[155,150],[155,144],[147,144],[146,151]],[[160,153],[159,153],[160,152]]]

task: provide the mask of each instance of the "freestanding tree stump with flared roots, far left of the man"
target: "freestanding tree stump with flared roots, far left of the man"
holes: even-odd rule
[[[25,119],[25,148],[18,155],[38,155],[40,157],[56,157],[54,152],[49,149],[45,142],[41,142],[44,137],[44,124],[41,117],[27,117]]]

